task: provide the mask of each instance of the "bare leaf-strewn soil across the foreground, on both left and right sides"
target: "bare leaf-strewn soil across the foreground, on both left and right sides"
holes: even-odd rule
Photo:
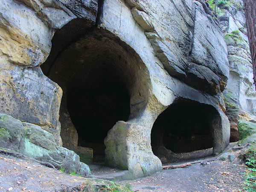
[[[201,153],[201,152],[200,152]],[[234,152],[237,156],[239,151]],[[209,157],[212,159],[212,157]],[[190,159],[190,158],[189,158]],[[189,160],[191,162],[191,160]],[[97,167],[97,166],[96,166]],[[118,173],[113,168],[99,166],[92,170],[90,177],[99,178],[102,170],[105,175]],[[186,168],[167,169],[149,177],[122,181],[133,191],[243,191],[243,173],[246,166],[241,159],[215,160],[210,165],[195,164]],[[120,174],[120,173],[119,173]],[[112,179],[112,177],[111,177]],[[80,191],[80,187],[93,178],[67,175],[58,170],[42,166],[26,157],[17,158],[0,153],[0,192],[1,191]],[[102,180],[98,180],[102,183]]]

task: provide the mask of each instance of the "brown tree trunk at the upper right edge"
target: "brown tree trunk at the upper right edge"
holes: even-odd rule
[[[253,62],[253,79],[256,85],[256,0],[244,0],[250,53]],[[256,88],[256,87],[255,87]]]

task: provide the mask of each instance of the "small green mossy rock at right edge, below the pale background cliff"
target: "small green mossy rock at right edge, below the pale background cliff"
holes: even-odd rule
[[[238,121],[239,139],[243,140],[246,137],[256,133],[256,123],[240,119]]]

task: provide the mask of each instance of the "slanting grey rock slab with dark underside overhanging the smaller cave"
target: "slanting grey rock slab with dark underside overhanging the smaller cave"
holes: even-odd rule
[[[224,90],[229,75],[227,47],[218,23],[207,14],[210,11],[205,3],[127,2],[171,76],[211,94]]]

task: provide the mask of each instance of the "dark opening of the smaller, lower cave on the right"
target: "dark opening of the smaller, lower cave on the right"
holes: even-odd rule
[[[162,163],[212,155],[212,120],[216,115],[211,105],[176,99],[154,122],[151,130],[153,153]],[[192,152],[203,149],[208,151]]]

